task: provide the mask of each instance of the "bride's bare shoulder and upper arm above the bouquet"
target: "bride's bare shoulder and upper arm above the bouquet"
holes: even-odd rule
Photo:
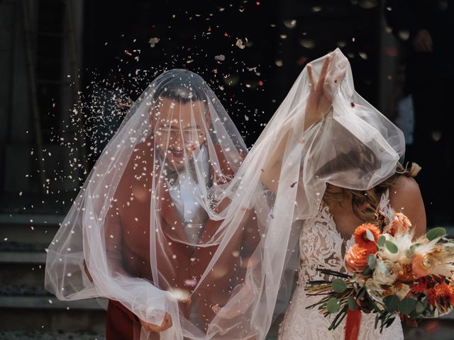
[[[426,210],[418,183],[413,178],[400,176],[395,186],[389,188],[389,199],[396,212],[409,217],[415,239],[426,233]]]

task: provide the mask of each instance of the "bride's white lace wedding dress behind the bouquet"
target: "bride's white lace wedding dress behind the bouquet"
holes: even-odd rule
[[[389,191],[382,195],[380,210],[389,215]],[[316,268],[328,268],[333,271],[345,272],[343,257],[345,249],[354,244],[353,236],[345,240],[336,229],[333,215],[328,206],[322,203],[316,217],[306,220],[299,237],[300,268],[297,288],[290,302],[284,321],[279,327],[279,339],[282,340],[314,340],[314,339],[343,339],[345,319],[334,330],[328,327],[333,317],[323,317],[316,308],[306,310],[320,297],[306,296],[304,288],[309,280],[324,280],[326,276],[316,271]],[[329,276],[328,280],[333,277]],[[375,314],[362,313],[362,323],[358,339],[404,339],[399,318],[380,334],[380,327],[375,329]]]

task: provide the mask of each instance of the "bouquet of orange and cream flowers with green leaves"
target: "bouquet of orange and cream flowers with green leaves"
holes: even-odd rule
[[[307,308],[318,307],[325,316],[336,314],[329,329],[346,316],[345,339],[358,339],[361,310],[375,313],[380,331],[395,317],[416,325],[416,318],[453,310],[454,240],[438,227],[414,241],[410,227],[402,213],[391,213],[382,228],[372,223],[357,227],[355,244],[344,259],[351,275],[318,269],[335,278],[309,282],[307,295],[323,298]]]

